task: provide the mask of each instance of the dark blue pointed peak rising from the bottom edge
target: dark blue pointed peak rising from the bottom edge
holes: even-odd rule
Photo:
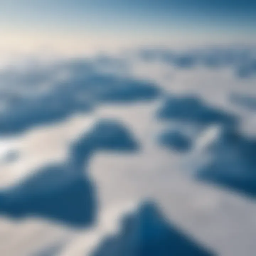
[[[124,217],[121,231],[103,240],[91,256],[210,256],[189,236],[169,224],[152,202]]]

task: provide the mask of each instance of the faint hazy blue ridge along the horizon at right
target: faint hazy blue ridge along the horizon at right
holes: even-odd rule
[[[138,55],[145,62],[161,62],[179,69],[229,66],[239,78],[256,75],[255,47],[213,47],[179,52],[171,49],[144,48],[139,50]]]

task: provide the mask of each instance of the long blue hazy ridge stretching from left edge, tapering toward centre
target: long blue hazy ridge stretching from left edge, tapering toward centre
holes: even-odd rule
[[[23,132],[101,103],[153,100],[160,89],[148,81],[106,74],[89,60],[0,72],[0,135]]]

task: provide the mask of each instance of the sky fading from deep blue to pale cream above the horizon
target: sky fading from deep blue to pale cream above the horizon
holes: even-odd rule
[[[252,0],[0,0],[0,47],[250,43],[255,13]]]

